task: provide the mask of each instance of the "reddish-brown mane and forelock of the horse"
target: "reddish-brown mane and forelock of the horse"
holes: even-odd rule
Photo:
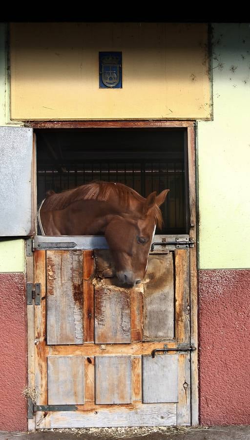
[[[79,200],[107,201],[111,193],[119,197],[119,200],[124,203],[126,207],[129,207],[131,197],[141,202],[146,201],[146,198],[122,183],[98,181],[87,183],[71,190],[62,191],[62,193],[58,194],[54,191],[48,191],[42,209],[45,212],[60,210]],[[154,205],[152,210],[157,226],[162,228],[163,217],[159,206]]]

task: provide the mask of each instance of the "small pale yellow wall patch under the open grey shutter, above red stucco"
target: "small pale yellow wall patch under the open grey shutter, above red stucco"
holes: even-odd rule
[[[0,241],[0,272],[24,272],[24,240]]]

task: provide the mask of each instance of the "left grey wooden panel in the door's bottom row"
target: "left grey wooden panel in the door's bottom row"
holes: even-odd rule
[[[48,356],[48,404],[84,403],[82,356]]]

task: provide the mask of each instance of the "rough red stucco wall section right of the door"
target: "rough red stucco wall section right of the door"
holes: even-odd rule
[[[250,424],[250,270],[200,270],[201,424]]]

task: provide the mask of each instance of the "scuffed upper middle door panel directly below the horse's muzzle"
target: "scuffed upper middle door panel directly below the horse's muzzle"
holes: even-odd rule
[[[95,286],[95,343],[129,344],[130,295],[115,286]]]

